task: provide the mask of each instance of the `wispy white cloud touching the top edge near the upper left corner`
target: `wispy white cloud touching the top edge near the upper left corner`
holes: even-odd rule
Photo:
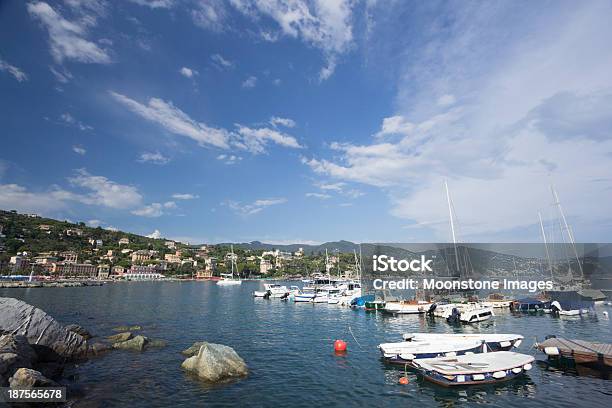
[[[64,60],[97,64],[111,62],[106,50],[87,39],[88,26],[95,25],[93,15],[85,15],[74,22],[66,20],[45,2],[28,3],[27,8],[30,15],[47,29],[51,55],[57,63]]]

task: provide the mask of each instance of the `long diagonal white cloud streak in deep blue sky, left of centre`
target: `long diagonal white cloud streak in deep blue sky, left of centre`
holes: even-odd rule
[[[151,98],[149,103],[144,105],[116,92],[110,91],[110,94],[132,112],[163,126],[171,133],[193,139],[202,146],[211,145],[223,149],[229,147],[229,133],[226,130],[215,129],[191,119],[172,102]]]

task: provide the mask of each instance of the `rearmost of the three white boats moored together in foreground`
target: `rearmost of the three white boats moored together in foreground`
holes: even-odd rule
[[[523,342],[520,334],[504,333],[404,333],[406,342],[432,342],[454,340],[478,340],[487,346],[487,351],[508,351],[518,347]]]

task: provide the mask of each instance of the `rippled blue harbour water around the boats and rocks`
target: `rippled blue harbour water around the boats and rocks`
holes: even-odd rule
[[[63,323],[78,323],[98,336],[124,324],[167,340],[164,349],[113,351],[76,369],[84,397],[78,407],[168,406],[418,406],[611,407],[612,380],[564,373],[540,363],[523,379],[496,386],[444,389],[385,366],[376,346],[400,341],[406,332],[520,333],[524,353],[548,334],[612,342],[611,321],[601,306],[587,318],[549,315],[497,316],[473,327],[453,328],[424,316],[386,317],[327,304],[253,299],[260,282],[219,287],[212,282],[128,282],[85,288],[4,289]],[[351,332],[354,334],[353,339]],[[348,342],[336,356],[333,340]],[[203,385],[180,368],[180,351],[195,341],[233,347],[247,362],[246,379]],[[359,344],[357,343],[359,342]]]

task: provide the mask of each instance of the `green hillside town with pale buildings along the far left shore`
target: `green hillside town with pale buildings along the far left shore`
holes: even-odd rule
[[[190,245],[84,223],[56,221],[37,214],[0,212],[0,275],[45,279],[156,280],[214,279],[234,261],[243,278],[302,277],[347,269],[351,258],[279,249],[252,250],[228,245]],[[233,259],[232,259],[233,258]],[[350,268],[348,268],[350,269]]]

